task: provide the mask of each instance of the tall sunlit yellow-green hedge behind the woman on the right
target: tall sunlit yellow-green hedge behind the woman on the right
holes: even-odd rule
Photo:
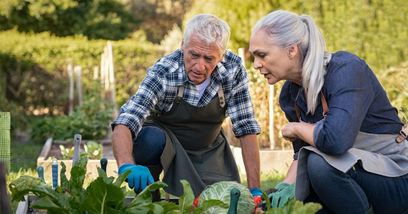
[[[231,27],[228,48],[237,52],[239,47],[249,48],[251,31],[258,20],[276,9],[284,9],[298,14],[310,15],[319,26],[326,41],[328,51],[347,50],[365,59],[376,72],[381,84],[388,92],[391,103],[396,108],[408,106],[406,102],[406,75],[397,74],[392,68],[408,61],[408,25],[405,24],[408,2],[398,1],[327,1],[327,0],[197,0],[183,21],[199,13],[215,14]],[[387,57],[385,57],[387,56]],[[262,147],[269,146],[269,86],[259,71],[252,69],[253,58],[245,55],[250,82],[250,93],[256,110],[256,118],[261,125],[257,136]],[[406,74],[406,65],[402,65]],[[388,73],[388,74],[385,74]],[[386,84],[384,84],[386,82]],[[274,87],[274,141],[275,146],[288,149],[291,143],[282,138],[281,130],[287,119],[279,108],[278,97],[282,83]]]

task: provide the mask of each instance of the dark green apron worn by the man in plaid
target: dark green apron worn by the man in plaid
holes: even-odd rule
[[[147,117],[144,126],[161,128],[166,135],[166,146],[161,156],[165,191],[174,196],[183,195],[185,179],[191,184],[194,196],[207,185],[219,181],[241,182],[230,145],[221,127],[225,119],[226,103],[222,86],[218,99],[197,107],[183,99],[184,85],[173,101],[170,111],[160,117]]]

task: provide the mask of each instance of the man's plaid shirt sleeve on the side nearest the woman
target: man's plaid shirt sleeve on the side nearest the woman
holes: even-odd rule
[[[259,134],[261,127],[255,119],[251,96],[249,95],[249,81],[245,68],[240,64],[234,76],[234,85],[228,100],[228,115],[233,123],[235,137],[249,133]]]

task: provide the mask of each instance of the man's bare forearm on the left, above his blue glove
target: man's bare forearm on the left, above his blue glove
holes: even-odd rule
[[[125,125],[116,125],[112,135],[112,150],[118,167],[123,164],[135,164],[133,160],[132,132]]]

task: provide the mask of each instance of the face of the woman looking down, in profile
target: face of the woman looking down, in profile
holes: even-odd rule
[[[263,31],[252,34],[249,41],[249,52],[254,57],[253,67],[258,69],[273,85],[283,79],[292,80],[295,63],[290,58],[290,51],[281,49],[270,42]]]

